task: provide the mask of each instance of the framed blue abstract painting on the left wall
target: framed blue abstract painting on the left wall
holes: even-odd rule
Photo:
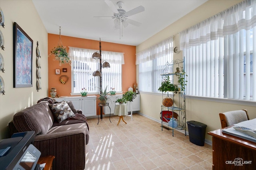
[[[33,40],[14,22],[13,87],[32,87]]]

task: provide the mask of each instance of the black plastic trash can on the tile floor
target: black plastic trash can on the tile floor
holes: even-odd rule
[[[198,121],[187,121],[189,141],[204,146],[204,138],[207,125]]]

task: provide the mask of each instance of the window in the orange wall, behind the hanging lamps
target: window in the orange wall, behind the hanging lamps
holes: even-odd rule
[[[92,76],[97,69],[100,70],[100,60],[92,59],[96,50],[70,47],[69,54],[72,61],[72,93],[76,94],[86,88],[88,93],[98,92],[100,78]],[[102,88],[108,86],[115,88],[117,92],[122,91],[122,64],[124,54],[110,51],[102,51],[102,63],[107,61],[110,68],[102,68]]]

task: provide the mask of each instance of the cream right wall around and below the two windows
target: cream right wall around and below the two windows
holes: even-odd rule
[[[176,21],[172,25],[169,25],[156,35],[150,37],[149,39],[138,45],[136,47],[136,52],[138,53],[144,49],[147,49],[148,47],[172,35],[174,35],[174,46],[178,46],[178,32],[192,25],[195,25],[196,23],[203,21],[239,2],[241,2],[241,0],[209,0],[202,6],[190,12],[188,15],[184,16],[180,20]],[[179,54],[174,54],[174,59],[176,58],[182,59],[182,52],[180,52]],[[138,82],[138,66],[136,68]],[[140,94],[140,96],[140,112],[148,117],[151,117],[152,119],[160,121],[160,106],[162,102],[162,96],[150,94]],[[206,125],[208,125],[208,127],[206,128],[206,132],[209,132],[221,128],[220,118],[218,115],[218,113],[220,112],[236,109],[247,109],[250,119],[256,118],[256,107],[239,104],[227,104],[222,102],[223,101],[210,102],[205,100],[186,98],[186,121],[195,120],[205,123]],[[206,139],[210,141],[212,140],[211,136],[209,135],[206,135]]]

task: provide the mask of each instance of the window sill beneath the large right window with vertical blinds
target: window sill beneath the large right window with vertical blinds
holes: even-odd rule
[[[210,98],[210,97],[201,97],[201,96],[189,96],[186,95],[187,99],[194,99],[194,100],[204,100],[209,102],[219,102],[219,103],[226,103],[226,104],[238,104],[244,106],[256,106],[255,101],[250,100],[236,100],[236,99],[223,99],[223,98]]]

